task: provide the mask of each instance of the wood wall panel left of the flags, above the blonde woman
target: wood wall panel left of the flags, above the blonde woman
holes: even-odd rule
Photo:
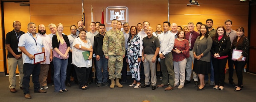
[[[47,34],[51,33],[48,25],[62,23],[66,35],[70,34],[70,26],[81,20],[81,0],[30,0],[30,21],[44,24]]]

